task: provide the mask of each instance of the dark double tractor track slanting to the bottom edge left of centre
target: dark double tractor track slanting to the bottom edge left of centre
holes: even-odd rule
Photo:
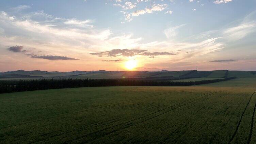
[[[220,91],[218,91],[218,92],[220,92]],[[106,135],[108,135],[108,134],[110,134],[110,133],[113,133],[113,132],[115,132],[115,131],[119,131],[119,130],[128,128],[128,127],[130,127],[130,126],[133,126],[133,125],[129,125],[130,122],[133,122],[133,121],[136,121],[136,120],[139,120],[139,119],[143,119],[143,118],[145,118],[145,117],[147,117],[147,116],[150,116],[150,115],[152,115],[152,114],[161,112],[161,111],[163,111],[163,110],[165,110],[165,109],[169,109],[169,108],[171,108],[171,107],[177,106],[177,105],[179,105],[179,104],[185,103],[185,102],[190,101],[190,100],[193,100],[193,99],[195,99],[195,98],[197,98],[196,100],[198,100],[198,99],[200,99],[200,98],[209,96],[209,95],[214,94],[214,93],[217,93],[217,92],[205,93],[205,94],[199,95],[199,96],[197,96],[197,97],[191,98],[191,99],[189,99],[189,100],[186,100],[186,101],[180,102],[180,103],[178,103],[178,104],[175,104],[175,105],[173,105],[173,106],[170,106],[170,107],[167,107],[167,108],[158,110],[158,111],[153,112],[153,113],[150,113],[150,114],[147,114],[147,115],[142,116],[142,117],[140,117],[140,118],[133,119],[133,120],[130,120],[130,121],[128,121],[128,122],[124,122],[124,123],[117,124],[117,125],[114,125],[114,126],[110,126],[110,127],[107,127],[107,128],[101,129],[101,130],[97,130],[97,131],[95,131],[95,132],[91,132],[91,133],[88,133],[88,134],[84,134],[84,135],[82,135],[82,136],[80,136],[80,137],[77,137],[77,138],[75,138],[75,139],[80,139],[80,138],[83,138],[83,137],[85,137],[85,136],[89,136],[89,135],[92,135],[92,134],[96,134],[96,133],[98,133],[98,132],[100,132],[100,131],[104,131],[104,130],[107,130],[107,129],[110,129],[110,128],[114,128],[114,127],[116,127],[116,126],[120,126],[120,125],[126,124],[125,127],[122,127],[122,128],[120,128],[120,129],[116,129],[116,130],[112,130],[111,132],[105,133],[105,134],[103,134],[103,135],[101,136],[101,137],[104,137],[104,136],[106,136]],[[203,96],[203,97],[201,97],[201,96]],[[198,98],[198,97],[200,97],[200,98]],[[178,106],[178,107],[176,107],[176,108],[174,108],[174,109],[177,109],[177,108],[182,107],[182,106],[184,106],[184,105],[186,105],[186,104],[192,103],[192,102],[194,102],[194,101],[196,101],[196,100],[193,100],[193,101],[191,101],[191,102],[188,102],[188,103],[185,103],[185,104],[183,104],[183,105],[180,105],[180,106]],[[165,114],[165,113],[167,113],[167,112],[170,112],[170,111],[172,111],[172,110],[174,110],[174,109],[171,109],[171,110],[168,110],[168,111],[166,111],[166,112],[160,113],[160,114],[158,114],[158,115],[156,115],[156,116],[153,116],[153,117],[151,117],[151,118],[148,118],[148,119],[146,119],[146,120],[144,120],[144,121],[140,121],[140,122],[138,122],[138,123],[136,123],[136,124],[143,123],[143,122],[145,122],[145,121],[154,119],[154,118],[156,118],[156,117],[158,117],[158,116],[160,116],[160,115],[163,115],[163,114]],[[128,124],[128,125],[127,125],[127,124]],[[69,141],[67,141],[67,142],[65,142],[65,143],[72,142],[72,141],[75,140],[75,139],[69,140]],[[87,141],[85,141],[85,142],[91,142],[91,141],[93,141],[93,140],[95,140],[95,138],[90,139],[90,140],[87,140]]]

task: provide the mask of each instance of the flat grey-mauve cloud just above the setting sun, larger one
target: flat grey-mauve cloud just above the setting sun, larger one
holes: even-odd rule
[[[102,56],[112,56],[112,57],[116,57],[116,56],[124,56],[124,57],[129,57],[129,56],[134,56],[134,55],[138,55],[142,52],[145,52],[146,50],[128,50],[128,49],[113,49],[111,51],[105,51],[105,52],[97,52],[97,53],[90,53],[92,55],[97,55],[99,57]]]

